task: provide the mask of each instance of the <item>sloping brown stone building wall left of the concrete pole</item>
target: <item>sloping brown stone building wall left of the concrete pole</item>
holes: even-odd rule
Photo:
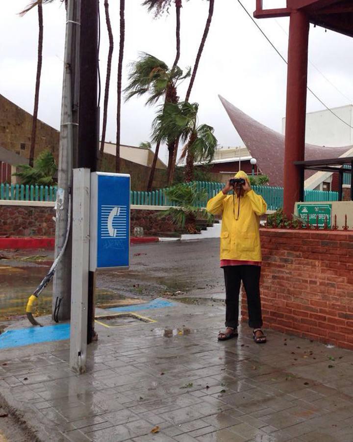
[[[31,132],[32,115],[0,95],[0,146],[29,158]],[[35,149],[35,156],[50,150],[58,160],[59,132],[40,120]]]

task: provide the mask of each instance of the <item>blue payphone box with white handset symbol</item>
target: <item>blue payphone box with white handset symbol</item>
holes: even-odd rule
[[[127,268],[130,175],[91,173],[90,270]]]

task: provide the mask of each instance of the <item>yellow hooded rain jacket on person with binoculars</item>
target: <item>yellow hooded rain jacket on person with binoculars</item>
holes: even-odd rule
[[[250,184],[248,175],[240,170],[235,178],[244,178]],[[207,202],[207,212],[222,215],[221,253],[222,259],[240,261],[261,261],[260,215],[266,213],[267,205],[262,196],[253,190],[240,197],[238,217],[238,196],[225,195],[222,191]]]

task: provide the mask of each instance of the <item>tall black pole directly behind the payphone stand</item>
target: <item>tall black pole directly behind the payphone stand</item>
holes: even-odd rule
[[[97,170],[99,152],[98,105],[98,0],[85,0],[81,8],[79,126],[77,166]],[[87,343],[94,336],[95,272],[88,278]]]

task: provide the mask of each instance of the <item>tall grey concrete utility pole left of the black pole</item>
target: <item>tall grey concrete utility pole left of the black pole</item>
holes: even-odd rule
[[[72,169],[77,154],[79,40],[81,0],[68,0],[64,55],[64,78],[61,105],[58,189],[63,190],[55,225],[55,256],[63,247],[69,210]],[[71,230],[71,227],[70,227]],[[54,320],[70,319],[71,307],[71,231],[66,250],[58,263],[53,281],[52,312]]]

